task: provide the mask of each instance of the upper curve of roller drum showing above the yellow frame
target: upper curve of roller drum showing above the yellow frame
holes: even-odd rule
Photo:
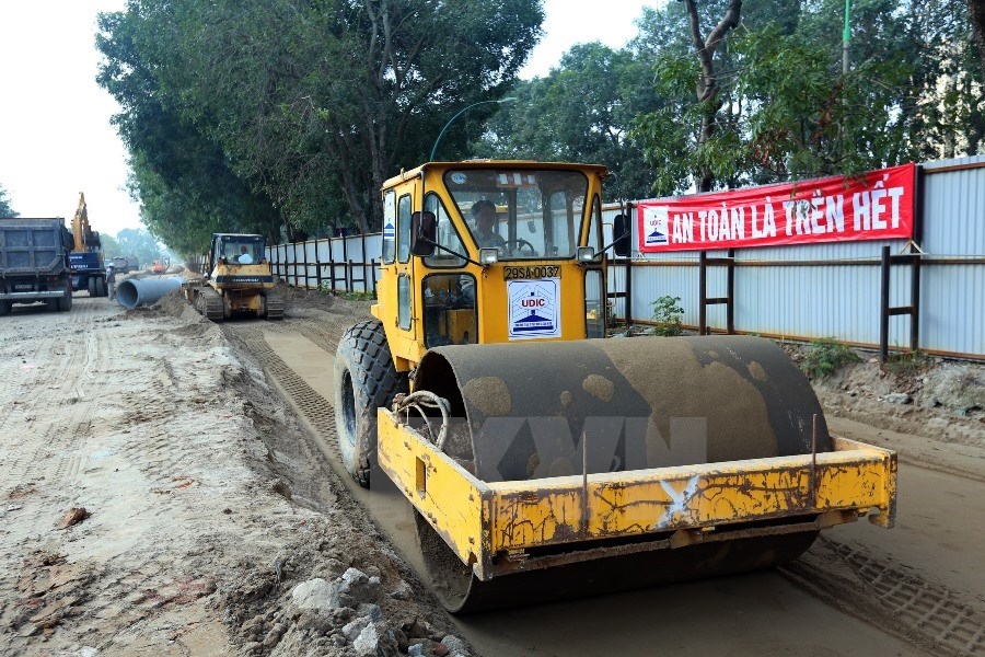
[[[485,482],[831,449],[808,380],[755,337],[438,347],[415,389],[449,400],[451,453]]]

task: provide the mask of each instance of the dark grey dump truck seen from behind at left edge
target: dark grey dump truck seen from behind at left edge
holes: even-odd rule
[[[72,308],[69,253],[72,233],[60,217],[0,218],[0,315],[11,307],[43,301],[48,310]]]

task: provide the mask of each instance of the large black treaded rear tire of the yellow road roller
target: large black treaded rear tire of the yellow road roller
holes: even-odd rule
[[[370,487],[376,462],[376,410],[407,392],[378,320],[349,327],[335,353],[335,430],[343,465],[360,486]]]

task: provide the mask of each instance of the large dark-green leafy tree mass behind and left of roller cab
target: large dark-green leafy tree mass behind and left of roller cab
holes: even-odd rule
[[[379,226],[382,183],[502,95],[542,20],[537,0],[130,0],[101,19],[100,80],[144,223],[179,247],[218,226]]]

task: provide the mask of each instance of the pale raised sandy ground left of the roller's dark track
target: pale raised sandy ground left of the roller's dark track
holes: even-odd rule
[[[303,429],[263,371],[162,306],[80,296],[3,318],[0,654],[356,655],[366,627],[344,629],[361,618],[378,648],[433,654],[450,623],[343,512],[345,488],[316,480],[305,497],[278,477],[321,457],[271,451]],[[268,608],[288,579],[345,585],[321,611]]]

